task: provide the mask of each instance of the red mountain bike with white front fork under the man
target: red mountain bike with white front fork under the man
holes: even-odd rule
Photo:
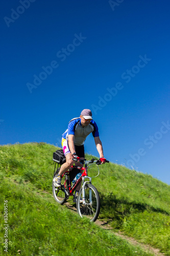
[[[108,160],[106,160],[106,162],[109,163]],[[100,212],[100,196],[98,190],[91,184],[91,177],[88,176],[87,170],[91,164],[96,164],[96,166],[98,167],[99,175],[99,165],[101,164],[101,161],[94,159],[86,161],[85,159],[80,160],[80,163],[84,164],[85,166],[79,167],[72,165],[62,175],[61,187],[55,187],[53,182],[53,196],[59,204],[64,204],[68,200],[69,196],[74,196],[76,200],[74,191],[76,190],[80,182],[82,182],[82,187],[77,197],[77,211],[82,218],[88,217],[91,222],[94,222],[96,221],[96,219],[98,219]],[[54,170],[54,177],[57,176],[59,170],[60,168]],[[81,171],[83,173],[80,178],[74,184],[72,184],[72,180],[74,179],[74,177]]]

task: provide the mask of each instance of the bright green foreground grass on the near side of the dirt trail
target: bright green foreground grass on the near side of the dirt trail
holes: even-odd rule
[[[2,214],[4,200],[8,200],[9,206],[8,255],[153,255],[81,219],[57,204],[52,196],[42,196],[33,189],[29,183],[19,185],[10,178],[2,180]],[[1,253],[3,250],[1,242]]]

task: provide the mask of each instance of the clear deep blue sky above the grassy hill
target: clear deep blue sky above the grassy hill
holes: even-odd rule
[[[68,121],[87,108],[108,160],[170,184],[169,8],[1,1],[0,144],[61,145]],[[92,135],[85,151],[98,156]]]

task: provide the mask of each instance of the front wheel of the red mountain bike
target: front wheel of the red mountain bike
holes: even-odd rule
[[[85,186],[85,204],[80,203],[83,199],[83,189],[79,191],[77,198],[77,211],[83,217],[88,217],[90,221],[96,221],[100,212],[100,196],[98,190],[92,184]]]

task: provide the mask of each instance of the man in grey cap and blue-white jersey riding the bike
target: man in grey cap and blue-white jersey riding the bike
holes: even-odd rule
[[[82,166],[79,161],[85,157],[84,141],[90,133],[92,133],[94,137],[95,145],[100,155],[100,161],[101,163],[105,163],[106,158],[104,158],[98,126],[92,119],[91,111],[89,109],[84,109],[81,112],[80,117],[73,118],[69,121],[68,129],[62,134],[61,144],[66,162],[62,164],[57,177],[53,180],[56,187],[61,187],[62,175],[71,167],[72,164],[74,164],[73,159],[78,160],[78,162],[75,162],[76,166]],[[77,187],[76,196],[78,195],[80,187],[81,184]]]

